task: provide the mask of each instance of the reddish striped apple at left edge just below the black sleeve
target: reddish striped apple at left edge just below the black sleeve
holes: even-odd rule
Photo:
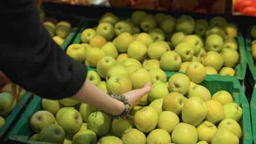
[[[16,89],[15,89],[16,88]],[[17,95],[16,100],[19,101],[23,95],[26,93],[26,90],[16,83],[7,83],[3,88],[1,93],[10,93],[11,95]]]

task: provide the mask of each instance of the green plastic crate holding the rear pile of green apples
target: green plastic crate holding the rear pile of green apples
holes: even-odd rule
[[[76,35],[73,44],[80,44],[81,43],[81,33],[86,28],[95,27],[98,24],[98,19],[86,19],[85,23],[80,28],[78,34]],[[224,80],[239,80],[241,85],[243,85],[245,80],[246,68],[247,68],[247,56],[245,50],[245,41],[243,39],[242,34],[238,31],[237,35],[237,42],[238,42],[238,52],[240,53],[239,64],[235,67],[235,76],[220,76],[220,75],[207,75],[206,77],[220,78]],[[88,67],[88,70],[96,71],[96,68]],[[166,74],[170,73],[170,71],[165,71]]]

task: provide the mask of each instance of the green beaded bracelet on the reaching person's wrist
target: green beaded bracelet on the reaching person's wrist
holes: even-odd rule
[[[110,94],[111,93],[111,94]],[[118,116],[113,116],[113,115],[110,115],[109,113],[106,113],[107,116],[111,117],[111,118],[121,118],[121,117],[124,117],[126,116],[127,114],[130,113],[130,106],[131,106],[131,103],[129,102],[128,98],[125,97],[125,95],[121,95],[121,94],[115,94],[113,91],[110,91],[109,92],[109,95],[110,97],[114,98],[114,99],[117,99],[119,101],[122,101],[125,105],[125,110],[123,113],[121,113],[120,115]]]

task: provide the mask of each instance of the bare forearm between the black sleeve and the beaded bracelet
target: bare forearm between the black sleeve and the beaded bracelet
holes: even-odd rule
[[[100,88],[93,85],[87,79],[79,92],[71,98],[79,100],[82,103],[96,106],[98,109],[104,110],[112,115],[120,115],[125,109],[121,101],[111,98],[107,93],[101,91]]]

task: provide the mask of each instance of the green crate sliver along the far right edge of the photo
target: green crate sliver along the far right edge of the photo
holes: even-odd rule
[[[249,80],[249,84],[253,89],[252,98],[251,98],[251,115],[252,115],[252,133],[253,133],[253,141],[256,143],[256,67],[254,67],[253,57],[252,57],[252,37],[251,37],[251,28],[248,29],[247,37],[246,37],[246,55],[248,62],[248,70],[247,79]]]

